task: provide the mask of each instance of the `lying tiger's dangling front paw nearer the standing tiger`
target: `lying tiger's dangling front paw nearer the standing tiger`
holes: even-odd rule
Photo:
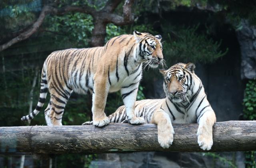
[[[158,142],[162,148],[169,148],[175,134],[172,125],[158,126]]]

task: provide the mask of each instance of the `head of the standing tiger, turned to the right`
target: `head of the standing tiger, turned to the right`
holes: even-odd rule
[[[145,67],[156,68],[158,65],[164,67],[164,56],[162,53],[161,35],[153,36],[149,33],[140,33],[134,30],[134,37],[137,42],[136,58],[144,62]]]

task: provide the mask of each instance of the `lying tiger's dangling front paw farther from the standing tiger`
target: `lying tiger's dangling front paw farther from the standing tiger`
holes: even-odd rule
[[[212,148],[213,140],[212,136],[206,133],[201,133],[198,131],[198,144],[202,150],[210,150]]]

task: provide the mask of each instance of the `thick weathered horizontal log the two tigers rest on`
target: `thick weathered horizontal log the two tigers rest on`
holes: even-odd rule
[[[174,124],[174,142],[160,147],[156,125],[110,123],[87,126],[0,127],[0,152],[114,153],[142,151],[206,152],[197,144],[198,124]],[[256,150],[256,121],[228,121],[214,125],[211,152]]]

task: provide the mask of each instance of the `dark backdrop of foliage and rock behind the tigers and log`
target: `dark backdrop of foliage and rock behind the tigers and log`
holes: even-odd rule
[[[217,121],[256,119],[256,2],[242,0],[134,0],[132,17],[117,24],[96,14],[79,11],[46,14],[29,37],[1,47],[29,32],[45,6],[90,7],[124,17],[123,0],[3,0],[0,2],[0,126],[46,125],[41,112],[30,124],[20,118],[35,108],[39,97],[40,71],[46,57],[66,48],[103,45],[134,30],[161,34],[167,67],[178,62],[196,64],[196,74],[214,109]],[[96,22],[103,23],[103,33]],[[98,32],[97,32],[98,31]],[[96,35],[102,34],[100,38]],[[98,41],[97,41],[98,40]],[[166,68],[167,68],[166,67]],[[33,84],[34,83],[34,84]],[[137,99],[160,98],[162,75],[144,72]],[[152,89],[154,88],[154,89]],[[163,98],[163,97],[162,97]],[[248,99],[247,99],[248,98]],[[47,98],[49,100],[49,97]],[[47,105],[47,103],[46,103]],[[44,108],[46,108],[46,105]],[[106,113],[123,105],[120,93],[108,95]],[[91,120],[91,95],[72,94],[62,118],[64,125]],[[18,167],[20,155],[0,155],[0,167]],[[57,156],[26,155],[24,167],[252,167],[253,152],[226,153],[134,153]],[[254,167],[255,168],[255,167]]]

